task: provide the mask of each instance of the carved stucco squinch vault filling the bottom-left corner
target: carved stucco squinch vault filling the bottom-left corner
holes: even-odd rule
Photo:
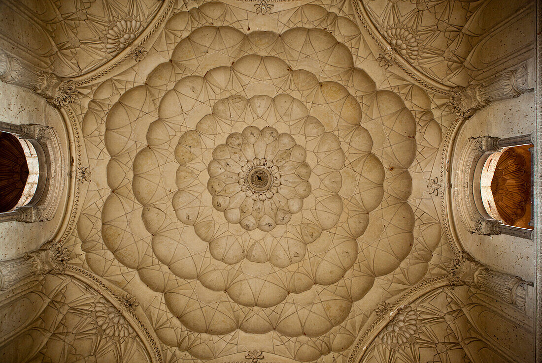
[[[45,275],[0,311],[3,361],[156,360],[117,307],[69,276]]]

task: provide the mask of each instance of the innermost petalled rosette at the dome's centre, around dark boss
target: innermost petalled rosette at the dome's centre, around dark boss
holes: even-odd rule
[[[212,156],[207,182],[212,204],[244,229],[285,225],[311,193],[305,149],[272,127],[230,134]]]

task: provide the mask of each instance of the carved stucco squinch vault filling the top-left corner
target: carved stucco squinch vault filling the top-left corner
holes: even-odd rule
[[[35,57],[33,62],[58,76],[74,77],[130,45],[161,4],[156,0],[5,0],[0,3],[4,15],[0,40],[22,44]]]

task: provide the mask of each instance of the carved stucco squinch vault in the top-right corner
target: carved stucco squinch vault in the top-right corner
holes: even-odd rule
[[[505,18],[504,14],[513,14],[529,3],[366,0],[360,6],[391,48],[416,70],[446,85],[467,86],[473,76],[485,70],[489,61],[486,58],[500,57],[498,53],[491,54],[491,47],[499,45],[480,42],[488,33],[495,32],[495,24]]]

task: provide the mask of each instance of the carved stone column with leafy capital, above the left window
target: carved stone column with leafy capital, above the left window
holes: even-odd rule
[[[78,90],[72,80],[64,80],[0,50],[0,81],[33,90],[56,108],[65,107],[75,100]]]

